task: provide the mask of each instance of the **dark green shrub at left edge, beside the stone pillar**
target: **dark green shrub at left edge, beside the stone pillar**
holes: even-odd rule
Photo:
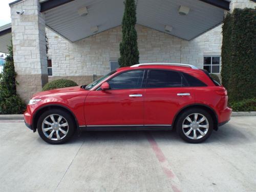
[[[26,109],[24,101],[16,94],[16,73],[13,62],[12,44],[0,77],[0,114],[21,114]]]

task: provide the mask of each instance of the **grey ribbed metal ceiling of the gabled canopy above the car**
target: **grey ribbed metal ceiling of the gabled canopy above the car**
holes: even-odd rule
[[[55,8],[46,9],[46,25],[71,41],[77,41],[121,25],[124,10],[122,0],[63,1],[66,4],[57,7],[55,4]],[[46,3],[49,6],[51,2],[56,3],[55,0]],[[216,2],[226,1],[137,0],[137,24],[191,40],[222,23],[225,10],[220,8],[221,5],[212,5]],[[190,8],[187,15],[178,13],[181,5]],[[77,11],[81,7],[87,7],[89,13],[87,16],[79,16]],[[166,25],[172,27],[173,30],[166,32],[164,30]],[[90,29],[95,26],[99,30],[93,33]]]

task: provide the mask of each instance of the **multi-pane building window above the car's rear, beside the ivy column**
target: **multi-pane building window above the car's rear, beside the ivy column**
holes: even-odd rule
[[[220,73],[220,65],[220,56],[204,56],[204,70],[209,73]]]

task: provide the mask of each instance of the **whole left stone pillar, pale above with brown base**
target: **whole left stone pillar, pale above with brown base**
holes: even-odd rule
[[[28,101],[48,82],[45,17],[38,0],[26,0],[11,6],[11,18],[17,93]]]

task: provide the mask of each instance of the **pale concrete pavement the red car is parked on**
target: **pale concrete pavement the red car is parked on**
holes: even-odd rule
[[[256,117],[201,144],[170,131],[83,132],[50,145],[0,120],[0,191],[256,191]]]

